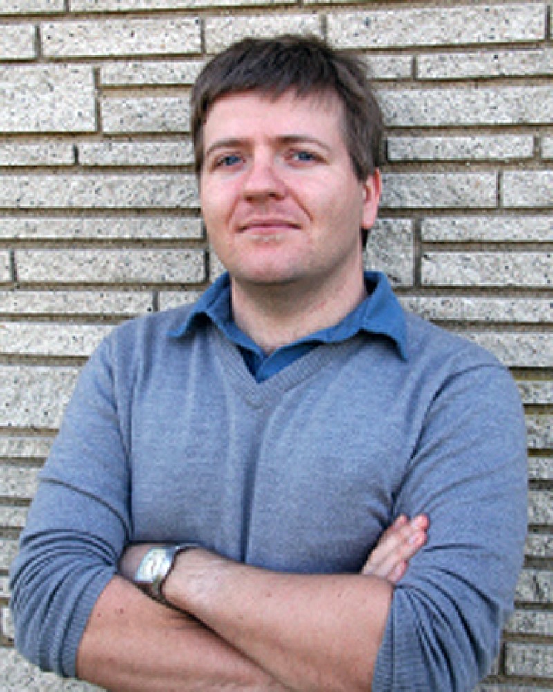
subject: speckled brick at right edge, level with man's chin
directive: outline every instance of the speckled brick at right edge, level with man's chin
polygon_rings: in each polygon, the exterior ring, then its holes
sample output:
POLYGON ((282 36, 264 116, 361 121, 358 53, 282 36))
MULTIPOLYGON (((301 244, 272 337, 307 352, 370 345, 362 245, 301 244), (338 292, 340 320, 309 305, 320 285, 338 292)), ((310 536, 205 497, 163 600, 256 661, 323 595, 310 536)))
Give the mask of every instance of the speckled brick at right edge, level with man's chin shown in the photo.
POLYGON ((525 286, 553 283, 552 253, 427 252, 421 260, 426 286, 525 286))

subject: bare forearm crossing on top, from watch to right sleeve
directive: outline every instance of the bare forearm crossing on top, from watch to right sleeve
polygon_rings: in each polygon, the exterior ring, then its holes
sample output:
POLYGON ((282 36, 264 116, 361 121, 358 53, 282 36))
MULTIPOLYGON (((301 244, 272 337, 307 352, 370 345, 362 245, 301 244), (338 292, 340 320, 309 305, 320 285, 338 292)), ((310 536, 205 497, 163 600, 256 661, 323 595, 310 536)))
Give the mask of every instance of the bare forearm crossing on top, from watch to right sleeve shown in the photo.
POLYGON ((393 586, 373 576, 258 570, 179 556, 164 594, 297 691, 368 690, 393 586))

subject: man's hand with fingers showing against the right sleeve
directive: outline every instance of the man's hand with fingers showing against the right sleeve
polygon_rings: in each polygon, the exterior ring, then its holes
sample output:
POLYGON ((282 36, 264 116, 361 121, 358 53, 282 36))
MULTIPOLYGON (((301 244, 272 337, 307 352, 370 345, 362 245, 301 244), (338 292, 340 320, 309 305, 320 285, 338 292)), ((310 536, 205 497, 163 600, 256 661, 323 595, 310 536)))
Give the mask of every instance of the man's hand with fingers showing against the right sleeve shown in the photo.
POLYGON ((409 560, 427 542, 429 519, 419 514, 409 520, 401 514, 380 536, 361 571, 397 584, 409 566, 409 560))

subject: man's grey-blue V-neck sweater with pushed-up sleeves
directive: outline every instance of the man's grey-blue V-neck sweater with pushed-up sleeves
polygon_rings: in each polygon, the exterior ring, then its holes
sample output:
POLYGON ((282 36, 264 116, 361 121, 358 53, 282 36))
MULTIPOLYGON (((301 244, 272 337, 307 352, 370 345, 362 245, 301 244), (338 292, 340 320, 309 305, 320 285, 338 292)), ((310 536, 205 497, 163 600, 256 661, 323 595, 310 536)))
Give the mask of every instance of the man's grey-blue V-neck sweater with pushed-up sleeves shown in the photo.
POLYGON ((407 315, 406 359, 359 334, 256 383, 213 325, 174 336, 187 311, 127 322, 84 367, 12 566, 22 653, 75 675, 129 542, 357 572, 399 513, 426 512, 373 690, 472 689, 498 652, 525 540, 525 430, 507 371, 407 315))

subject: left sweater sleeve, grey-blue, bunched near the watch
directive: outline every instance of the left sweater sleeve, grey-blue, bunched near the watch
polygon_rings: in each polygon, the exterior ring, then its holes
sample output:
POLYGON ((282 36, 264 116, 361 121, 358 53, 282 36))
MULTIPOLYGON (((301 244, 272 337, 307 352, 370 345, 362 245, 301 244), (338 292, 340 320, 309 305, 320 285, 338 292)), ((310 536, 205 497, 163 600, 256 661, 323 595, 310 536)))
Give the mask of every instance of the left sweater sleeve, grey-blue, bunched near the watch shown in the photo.
POLYGON ((69 677, 93 605, 131 531, 109 350, 104 342, 79 377, 10 574, 17 648, 44 670, 69 677))

